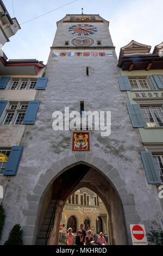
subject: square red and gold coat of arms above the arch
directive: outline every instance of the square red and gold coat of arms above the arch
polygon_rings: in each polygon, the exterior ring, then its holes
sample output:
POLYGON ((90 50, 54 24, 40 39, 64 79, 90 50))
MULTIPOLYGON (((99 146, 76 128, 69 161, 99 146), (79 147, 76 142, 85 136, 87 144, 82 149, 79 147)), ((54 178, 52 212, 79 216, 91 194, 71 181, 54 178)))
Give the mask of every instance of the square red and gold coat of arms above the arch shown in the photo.
POLYGON ((73 132, 73 151, 90 151, 89 132, 73 132))

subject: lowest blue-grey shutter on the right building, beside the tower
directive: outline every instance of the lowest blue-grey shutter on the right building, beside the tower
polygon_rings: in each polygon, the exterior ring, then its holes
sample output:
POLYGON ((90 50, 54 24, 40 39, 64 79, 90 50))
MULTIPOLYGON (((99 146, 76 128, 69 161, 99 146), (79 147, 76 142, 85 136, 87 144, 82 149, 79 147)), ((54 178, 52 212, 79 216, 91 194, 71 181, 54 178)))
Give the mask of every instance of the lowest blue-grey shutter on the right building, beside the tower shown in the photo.
POLYGON ((160 175, 156 169, 152 153, 150 151, 141 151, 141 158, 148 180, 148 184, 161 184, 160 175))

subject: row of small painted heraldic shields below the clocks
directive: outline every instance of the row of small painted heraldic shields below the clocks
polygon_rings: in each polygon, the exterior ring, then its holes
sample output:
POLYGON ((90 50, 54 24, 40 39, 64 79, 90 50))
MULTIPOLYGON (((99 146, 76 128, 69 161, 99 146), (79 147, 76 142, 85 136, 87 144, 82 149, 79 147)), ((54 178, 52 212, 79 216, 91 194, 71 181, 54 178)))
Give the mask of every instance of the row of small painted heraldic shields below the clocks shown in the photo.
POLYGON ((97 57, 97 56, 101 56, 101 57, 105 57, 105 56, 113 56, 112 52, 53 52, 52 53, 53 57, 73 57, 73 56, 77 56, 77 57, 81 57, 81 56, 93 56, 93 57, 97 57))

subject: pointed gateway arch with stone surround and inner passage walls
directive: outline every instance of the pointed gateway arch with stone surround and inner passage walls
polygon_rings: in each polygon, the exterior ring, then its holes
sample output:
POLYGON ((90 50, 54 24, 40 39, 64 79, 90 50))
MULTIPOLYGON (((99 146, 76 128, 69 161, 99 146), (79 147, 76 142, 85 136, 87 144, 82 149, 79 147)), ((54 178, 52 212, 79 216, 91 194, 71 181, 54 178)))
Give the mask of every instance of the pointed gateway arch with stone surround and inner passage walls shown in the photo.
POLYGON ((110 245, 129 244, 129 224, 133 221, 138 223, 140 218, 133 214, 135 212, 134 197, 127 193, 125 186, 120 174, 111 164, 89 153, 74 154, 53 163, 51 169, 41 174, 34 193, 27 196, 28 213, 32 212, 32 216, 28 215, 27 224, 23 227, 24 230, 30 230, 26 232, 30 236, 24 236, 24 241, 28 245, 45 244, 49 223, 43 223, 43 221, 46 215, 52 216, 52 209, 47 211, 51 200, 55 203, 59 199, 55 209, 54 227, 49 230, 47 241, 48 245, 58 245, 59 225, 66 200, 73 191, 87 187, 102 199, 108 211, 110 245), (61 188, 60 194, 59 188, 61 188), (41 235, 39 235, 40 232, 42 232, 41 235))

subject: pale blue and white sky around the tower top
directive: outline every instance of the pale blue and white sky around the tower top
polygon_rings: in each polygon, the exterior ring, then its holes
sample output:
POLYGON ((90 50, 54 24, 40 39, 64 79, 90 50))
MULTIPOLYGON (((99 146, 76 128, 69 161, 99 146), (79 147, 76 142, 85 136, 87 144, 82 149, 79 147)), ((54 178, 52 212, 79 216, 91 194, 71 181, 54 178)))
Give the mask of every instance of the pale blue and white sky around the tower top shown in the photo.
POLYGON ((57 21, 66 14, 81 14, 82 8, 84 14, 99 14, 110 22, 109 30, 117 56, 120 48, 131 40, 151 45, 151 51, 163 41, 162 0, 77 0, 39 19, 22 24, 72 1, 3 0, 11 18, 16 17, 21 26, 2 48, 8 59, 37 59, 46 64, 57 30, 57 21))

